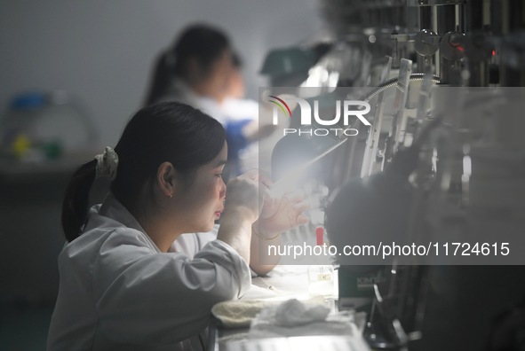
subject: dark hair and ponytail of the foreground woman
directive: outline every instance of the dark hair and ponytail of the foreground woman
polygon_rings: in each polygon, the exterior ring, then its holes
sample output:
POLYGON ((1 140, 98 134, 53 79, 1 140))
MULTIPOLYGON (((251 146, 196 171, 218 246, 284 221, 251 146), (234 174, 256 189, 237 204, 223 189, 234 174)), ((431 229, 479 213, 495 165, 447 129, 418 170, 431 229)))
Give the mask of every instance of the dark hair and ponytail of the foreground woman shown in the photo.
MULTIPOLYGON (((200 110, 176 102, 148 105, 135 113, 115 146, 118 166, 110 190, 136 218, 147 215, 156 205, 141 191, 145 184, 155 185, 163 162, 171 162, 189 184, 195 170, 215 159, 225 141, 219 121, 200 110)), ((78 168, 68 184, 62 227, 69 242, 80 236, 86 220, 96 165, 91 160, 78 168)))

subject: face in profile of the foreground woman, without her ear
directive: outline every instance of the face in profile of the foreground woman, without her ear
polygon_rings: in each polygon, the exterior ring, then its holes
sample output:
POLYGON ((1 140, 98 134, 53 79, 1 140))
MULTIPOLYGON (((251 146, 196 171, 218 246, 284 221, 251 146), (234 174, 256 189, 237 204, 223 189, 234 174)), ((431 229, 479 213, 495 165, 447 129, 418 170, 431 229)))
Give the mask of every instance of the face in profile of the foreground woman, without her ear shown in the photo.
POLYGON ((227 144, 215 157, 197 168, 189 185, 177 196, 183 201, 186 232, 210 231, 224 210, 226 184, 222 180, 222 171, 227 160, 227 144))

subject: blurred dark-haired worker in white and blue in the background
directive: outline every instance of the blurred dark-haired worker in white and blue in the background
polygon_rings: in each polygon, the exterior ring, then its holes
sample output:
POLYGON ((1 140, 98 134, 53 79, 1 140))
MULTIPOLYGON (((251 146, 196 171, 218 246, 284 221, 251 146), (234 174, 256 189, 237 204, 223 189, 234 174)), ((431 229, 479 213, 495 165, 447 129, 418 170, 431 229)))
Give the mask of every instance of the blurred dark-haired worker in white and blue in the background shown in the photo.
POLYGON ((183 102, 221 122, 227 129, 229 144, 226 176, 257 168, 256 147, 249 152, 250 163, 242 164, 239 153, 274 130, 259 129, 259 106, 257 101, 244 98, 241 66, 221 30, 200 24, 187 27, 176 43, 157 58, 146 99, 146 105, 183 102))

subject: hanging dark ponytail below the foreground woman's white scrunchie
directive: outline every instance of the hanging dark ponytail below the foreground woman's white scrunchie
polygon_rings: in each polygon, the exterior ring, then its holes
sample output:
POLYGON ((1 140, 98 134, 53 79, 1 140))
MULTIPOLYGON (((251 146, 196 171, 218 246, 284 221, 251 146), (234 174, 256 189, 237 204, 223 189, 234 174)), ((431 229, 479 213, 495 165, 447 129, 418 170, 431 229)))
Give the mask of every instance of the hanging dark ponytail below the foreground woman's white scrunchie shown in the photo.
POLYGON ((78 168, 68 184, 62 202, 62 228, 68 242, 80 235, 88 211, 91 184, 95 179, 97 160, 91 160, 78 168))

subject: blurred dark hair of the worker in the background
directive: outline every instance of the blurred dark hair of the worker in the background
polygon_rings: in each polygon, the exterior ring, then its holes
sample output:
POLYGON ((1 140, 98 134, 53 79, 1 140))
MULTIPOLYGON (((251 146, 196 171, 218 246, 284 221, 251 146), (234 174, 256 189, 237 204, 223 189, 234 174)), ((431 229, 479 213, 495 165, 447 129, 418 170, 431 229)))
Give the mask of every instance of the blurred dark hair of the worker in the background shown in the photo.
POLYGON ((187 64, 194 59, 202 74, 207 76, 211 66, 229 49, 227 35, 216 27, 196 24, 187 27, 177 41, 156 59, 145 105, 158 102, 170 90, 173 78, 185 80, 187 64))

